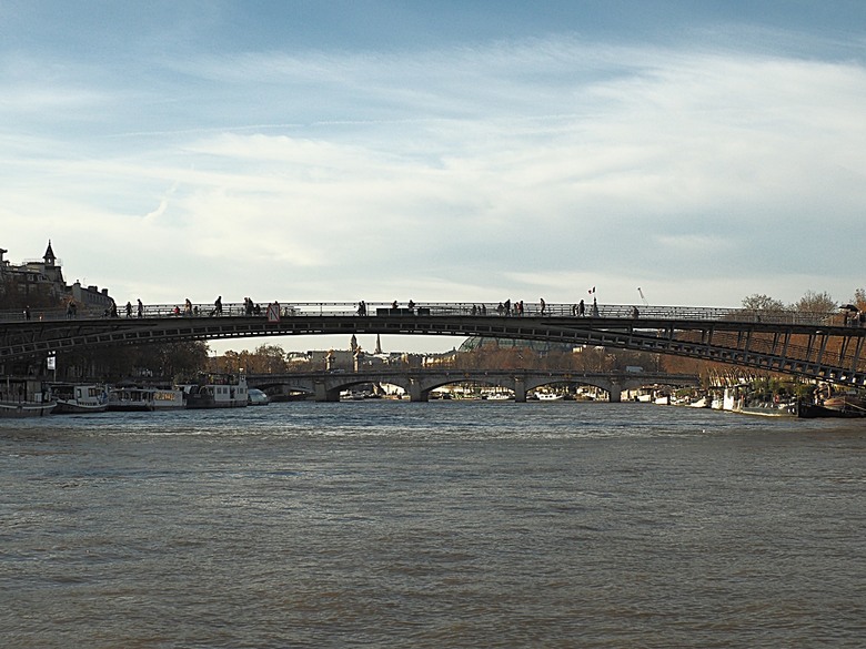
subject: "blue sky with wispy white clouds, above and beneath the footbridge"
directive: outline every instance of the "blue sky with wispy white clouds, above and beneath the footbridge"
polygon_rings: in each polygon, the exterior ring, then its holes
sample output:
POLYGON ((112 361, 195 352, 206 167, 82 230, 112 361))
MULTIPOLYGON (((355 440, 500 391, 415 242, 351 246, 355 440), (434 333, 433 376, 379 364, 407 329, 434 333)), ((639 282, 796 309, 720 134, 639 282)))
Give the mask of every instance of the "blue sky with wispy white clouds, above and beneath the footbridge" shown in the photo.
POLYGON ((859 0, 0 0, 0 247, 119 304, 844 303, 865 181, 859 0))

